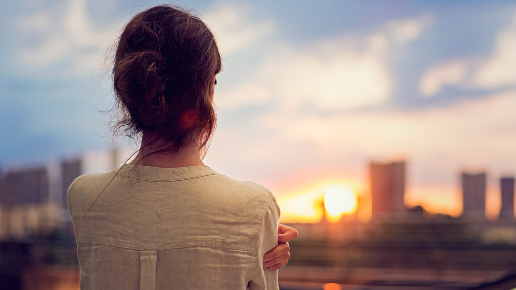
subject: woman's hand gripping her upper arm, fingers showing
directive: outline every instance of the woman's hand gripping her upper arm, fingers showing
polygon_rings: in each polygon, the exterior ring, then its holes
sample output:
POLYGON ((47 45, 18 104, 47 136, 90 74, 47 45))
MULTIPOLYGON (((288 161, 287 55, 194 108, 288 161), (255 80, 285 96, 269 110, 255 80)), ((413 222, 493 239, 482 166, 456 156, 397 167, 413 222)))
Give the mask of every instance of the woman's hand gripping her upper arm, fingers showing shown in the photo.
POLYGON ((263 256, 263 267, 269 268, 269 270, 276 270, 285 266, 288 263, 288 259, 290 259, 288 241, 296 237, 296 229, 280 223, 278 225, 278 246, 265 253, 263 256))

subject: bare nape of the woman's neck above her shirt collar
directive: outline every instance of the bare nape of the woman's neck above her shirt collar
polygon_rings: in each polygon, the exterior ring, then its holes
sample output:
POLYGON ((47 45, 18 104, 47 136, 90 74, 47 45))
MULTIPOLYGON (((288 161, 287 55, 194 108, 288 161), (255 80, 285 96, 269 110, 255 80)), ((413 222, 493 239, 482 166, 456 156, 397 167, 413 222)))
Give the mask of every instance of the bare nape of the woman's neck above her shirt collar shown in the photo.
POLYGON ((140 151, 129 164, 163 168, 204 165, 201 157, 199 156, 197 142, 189 142, 180 150, 173 153, 161 151, 165 149, 163 142, 150 142, 151 136, 143 133, 140 151))

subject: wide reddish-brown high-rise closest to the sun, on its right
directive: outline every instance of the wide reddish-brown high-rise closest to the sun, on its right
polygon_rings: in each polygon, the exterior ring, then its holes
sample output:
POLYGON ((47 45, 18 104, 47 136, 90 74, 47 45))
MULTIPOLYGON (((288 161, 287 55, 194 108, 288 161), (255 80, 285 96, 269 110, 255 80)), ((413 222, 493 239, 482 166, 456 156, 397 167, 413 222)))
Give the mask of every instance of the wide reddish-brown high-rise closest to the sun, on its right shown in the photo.
POLYGON ((370 163, 372 218, 405 212, 405 162, 370 163))

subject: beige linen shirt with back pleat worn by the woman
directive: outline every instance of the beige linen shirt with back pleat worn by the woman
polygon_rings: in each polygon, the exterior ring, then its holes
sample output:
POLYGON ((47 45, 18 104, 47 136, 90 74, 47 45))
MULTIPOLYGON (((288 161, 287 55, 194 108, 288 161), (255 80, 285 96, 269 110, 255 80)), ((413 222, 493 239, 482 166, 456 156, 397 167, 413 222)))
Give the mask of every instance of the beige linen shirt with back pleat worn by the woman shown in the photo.
POLYGON ((124 165, 68 190, 80 288, 278 289, 271 192, 209 167, 124 165), (101 194, 102 192, 102 194, 101 194))

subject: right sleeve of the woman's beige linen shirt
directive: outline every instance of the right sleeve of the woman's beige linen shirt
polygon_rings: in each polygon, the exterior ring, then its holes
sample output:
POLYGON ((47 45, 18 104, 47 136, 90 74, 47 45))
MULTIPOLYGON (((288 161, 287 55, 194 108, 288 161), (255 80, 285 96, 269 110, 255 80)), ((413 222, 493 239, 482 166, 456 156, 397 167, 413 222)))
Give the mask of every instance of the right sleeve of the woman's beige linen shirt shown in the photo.
POLYGON ((280 208, 276 197, 271 195, 267 210, 264 213, 260 234, 256 245, 256 264, 252 281, 249 283, 251 290, 279 289, 278 270, 263 268, 263 255, 278 246, 278 222, 280 208))

